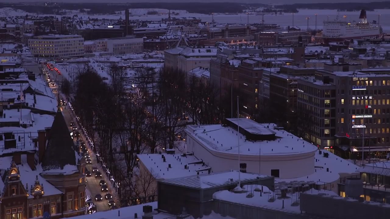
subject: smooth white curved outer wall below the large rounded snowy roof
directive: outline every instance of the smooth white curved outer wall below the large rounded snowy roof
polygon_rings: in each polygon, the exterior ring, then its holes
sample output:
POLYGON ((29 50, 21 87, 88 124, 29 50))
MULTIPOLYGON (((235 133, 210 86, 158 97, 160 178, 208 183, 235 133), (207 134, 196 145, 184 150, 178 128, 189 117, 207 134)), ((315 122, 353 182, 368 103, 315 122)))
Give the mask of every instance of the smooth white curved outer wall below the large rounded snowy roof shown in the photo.
MULTIPOLYGON (((193 152, 213 172, 239 170, 238 154, 211 150, 202 141, 187 131, 187 152, 193 152)), ((254 143, 256 144, 256 143, 254 143)), ((256 145, 254 145, 256 148, 256 145)), ((257 147, 259 148, 259 147, 257 147)), ((240 163, 246 163, 246 171, 271 175, 271 169, 279 169, 280 178, 298 178, 314 173, 315 152, 298 155, 241 155, 240 163)))

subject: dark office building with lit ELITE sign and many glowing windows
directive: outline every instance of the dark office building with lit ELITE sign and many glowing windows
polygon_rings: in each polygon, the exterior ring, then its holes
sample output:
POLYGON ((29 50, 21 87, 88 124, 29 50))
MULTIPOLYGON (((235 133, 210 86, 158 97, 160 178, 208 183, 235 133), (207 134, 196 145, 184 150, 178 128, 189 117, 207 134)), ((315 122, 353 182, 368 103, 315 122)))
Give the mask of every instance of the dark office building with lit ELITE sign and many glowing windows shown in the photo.
POLYGON ((360 69, 325 64, 314 77, 298 80, 298 129, 341 156, 361 157, 363 147, 364 154, 383 156, 390 150, 390 71, 360 69))

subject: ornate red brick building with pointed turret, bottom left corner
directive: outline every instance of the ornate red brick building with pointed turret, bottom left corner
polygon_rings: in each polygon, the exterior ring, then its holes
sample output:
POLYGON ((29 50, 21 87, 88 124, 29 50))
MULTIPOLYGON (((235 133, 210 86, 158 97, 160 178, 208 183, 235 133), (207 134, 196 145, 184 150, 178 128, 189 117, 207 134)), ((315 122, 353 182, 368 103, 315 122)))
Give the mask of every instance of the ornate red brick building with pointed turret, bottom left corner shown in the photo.
POLYGON ((20 142, 14 138, 16 132, 1 135, 1 219, 44 214, 57 219, 85 213, 85 161, 59 109, 50 128, 26 136, 34 150, 16 147, 20 142))

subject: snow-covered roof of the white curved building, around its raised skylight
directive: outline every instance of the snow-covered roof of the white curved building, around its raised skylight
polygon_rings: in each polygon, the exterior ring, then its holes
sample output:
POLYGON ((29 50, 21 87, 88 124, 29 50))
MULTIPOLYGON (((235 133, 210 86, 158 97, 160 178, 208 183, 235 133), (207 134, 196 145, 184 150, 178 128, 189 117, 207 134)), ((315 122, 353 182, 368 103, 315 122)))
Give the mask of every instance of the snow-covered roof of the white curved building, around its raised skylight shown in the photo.
POLYGON ((267 126, 275 132, 276 140, 247 141, 243 134, 222 125, 188 125, 186 131, 209 150, 227 154, 238 154, 238 148, 241 155, 257 156, 259 154, 264 156, 294 155, 317 150, 316 146, 287 131, 274 129, 277 127, 275 124, 259 124, 259 128, 262 127, 262 129, 266 129, 267 126))

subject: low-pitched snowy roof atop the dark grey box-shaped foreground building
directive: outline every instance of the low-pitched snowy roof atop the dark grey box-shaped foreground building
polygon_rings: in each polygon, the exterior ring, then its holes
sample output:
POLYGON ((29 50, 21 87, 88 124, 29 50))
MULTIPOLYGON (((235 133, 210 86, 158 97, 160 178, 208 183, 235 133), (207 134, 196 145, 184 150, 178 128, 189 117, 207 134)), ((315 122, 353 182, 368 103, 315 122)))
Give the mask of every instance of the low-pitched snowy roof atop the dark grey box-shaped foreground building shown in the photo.
POLYGON ((209 189, 213 187, 219 187, 223 185, 231 185, 238 183, 239 178, 242 183, 247 181, 253 181, 257 178, 270 178, 270 176, 259 175, 254 173, 240 173, 239 171, 226 171, 220 173, 210 173, 203 175, 195 175, 190 177, 172 178, 162 180, 161 182, 181 185, 184 187, 191 187, 197 189, 209 189), (232 179, 232 180, 231 180, 232 179))

